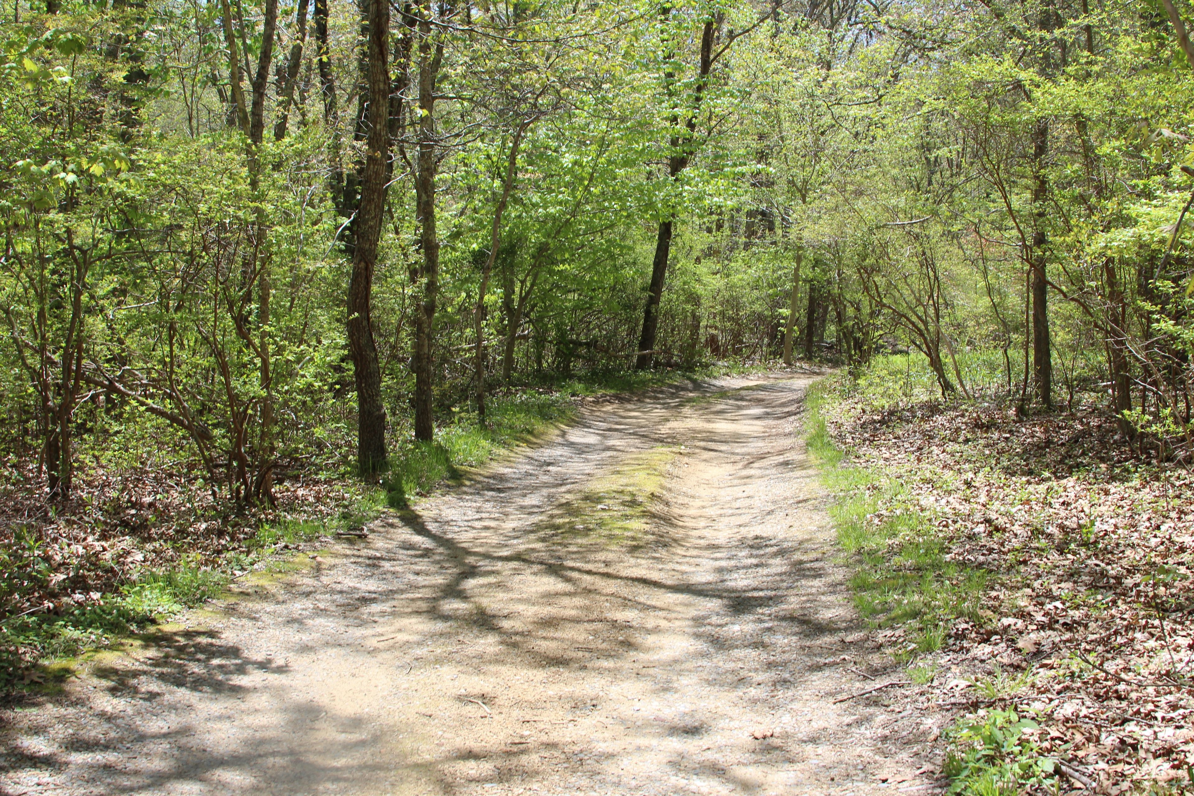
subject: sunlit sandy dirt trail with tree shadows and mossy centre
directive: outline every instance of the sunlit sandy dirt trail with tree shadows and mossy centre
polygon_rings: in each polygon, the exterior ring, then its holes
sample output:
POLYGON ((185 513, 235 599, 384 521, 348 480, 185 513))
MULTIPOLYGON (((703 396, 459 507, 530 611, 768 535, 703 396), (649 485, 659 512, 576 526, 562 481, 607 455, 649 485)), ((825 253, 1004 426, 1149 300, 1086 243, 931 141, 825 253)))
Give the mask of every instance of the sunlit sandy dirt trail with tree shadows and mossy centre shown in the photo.
POLYGON ((0 790, 933 792, 929 727, 835 703, 873 685, 851 667, 888 675, 799 442, 807 381, 586 409, 8 711, 0 790))

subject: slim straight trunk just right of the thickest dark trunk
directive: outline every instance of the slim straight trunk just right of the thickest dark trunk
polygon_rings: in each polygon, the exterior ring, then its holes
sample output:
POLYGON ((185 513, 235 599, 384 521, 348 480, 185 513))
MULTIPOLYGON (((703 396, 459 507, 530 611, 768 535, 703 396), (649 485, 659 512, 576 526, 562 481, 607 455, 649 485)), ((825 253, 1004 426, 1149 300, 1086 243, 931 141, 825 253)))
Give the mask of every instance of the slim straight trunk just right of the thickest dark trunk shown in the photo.
POLYGON ((443 44, 431 42, 430 7, 419 19, 419 152, 414 178, 416 215, 423 248, 421 296, 414 311, 414 438, 435 437, 432 337, 439 291, 439 237, 436 233, 436 78, 443 44))

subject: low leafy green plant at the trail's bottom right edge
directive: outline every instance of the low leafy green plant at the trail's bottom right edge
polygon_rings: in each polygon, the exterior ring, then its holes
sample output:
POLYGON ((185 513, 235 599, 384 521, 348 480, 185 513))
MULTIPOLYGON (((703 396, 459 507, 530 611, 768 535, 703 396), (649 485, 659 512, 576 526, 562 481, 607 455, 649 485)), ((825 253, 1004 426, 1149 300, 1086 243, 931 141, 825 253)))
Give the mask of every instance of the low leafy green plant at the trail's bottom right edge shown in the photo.
POLYGON ((1030 785, 1059 788, 1057 760, 1042 755, 1027 735, 1038 724, 1015 710, 991 710, 947 730, 943 773, 948 794, 1013 796, 1030 785))

